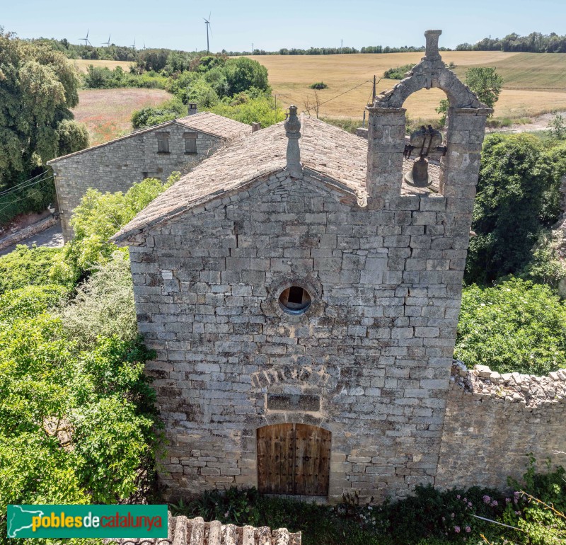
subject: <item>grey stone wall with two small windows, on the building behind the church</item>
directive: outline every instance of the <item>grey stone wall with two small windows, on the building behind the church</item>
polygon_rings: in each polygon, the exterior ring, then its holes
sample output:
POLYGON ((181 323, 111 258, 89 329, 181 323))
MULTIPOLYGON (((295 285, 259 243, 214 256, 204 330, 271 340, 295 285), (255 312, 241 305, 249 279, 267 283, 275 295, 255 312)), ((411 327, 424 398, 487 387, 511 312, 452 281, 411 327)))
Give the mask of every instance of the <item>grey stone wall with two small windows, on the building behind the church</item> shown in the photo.
POLYGON ((196 131, 173 123, 72 154, 52 164, 64 240, 73 236, 71 214, 88 188, 102 193, 125 192, 146 176, 166 180, 174 171, 186 172, 221 146, 219 137, 198 132, 197 154, 185 154, 185 132, 196 131), (168 154, 158 153, 156 132, 169 133, 168 154))

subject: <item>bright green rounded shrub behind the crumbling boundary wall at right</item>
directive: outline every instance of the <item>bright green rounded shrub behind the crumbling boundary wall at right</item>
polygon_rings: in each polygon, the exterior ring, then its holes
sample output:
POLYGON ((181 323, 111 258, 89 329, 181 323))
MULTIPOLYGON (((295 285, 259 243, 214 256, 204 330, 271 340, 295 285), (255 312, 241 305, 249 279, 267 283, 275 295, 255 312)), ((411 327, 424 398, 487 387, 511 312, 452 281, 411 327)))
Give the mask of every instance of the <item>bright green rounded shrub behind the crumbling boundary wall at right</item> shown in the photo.
POLYGON ((566 366, 566 306, 545 285, 512 278, 463 290, 455 357, 498 372, 566 366))

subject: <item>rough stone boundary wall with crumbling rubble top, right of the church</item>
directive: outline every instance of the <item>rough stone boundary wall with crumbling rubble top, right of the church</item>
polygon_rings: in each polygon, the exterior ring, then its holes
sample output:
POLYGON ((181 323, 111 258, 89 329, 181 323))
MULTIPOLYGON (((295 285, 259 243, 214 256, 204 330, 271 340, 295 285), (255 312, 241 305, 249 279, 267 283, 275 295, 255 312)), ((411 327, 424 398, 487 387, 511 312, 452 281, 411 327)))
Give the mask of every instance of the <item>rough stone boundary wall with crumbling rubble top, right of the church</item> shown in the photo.
POLYGON ((538 469, 565 465, 565 423, 566 369, 536 377, 454 362, 435 484, 506 488, 529 452, 538 469))

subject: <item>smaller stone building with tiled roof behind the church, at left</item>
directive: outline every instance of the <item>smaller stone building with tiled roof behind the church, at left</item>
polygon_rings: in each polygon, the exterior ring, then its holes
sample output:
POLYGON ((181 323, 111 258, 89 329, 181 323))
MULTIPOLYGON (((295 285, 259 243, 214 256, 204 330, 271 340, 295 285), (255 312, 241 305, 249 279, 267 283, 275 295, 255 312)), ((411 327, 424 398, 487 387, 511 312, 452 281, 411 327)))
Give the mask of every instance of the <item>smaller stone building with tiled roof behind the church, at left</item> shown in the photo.
POLYGON ((249 125, 202 112, 52 159, 64 240, 73 236, 71 214, 88 188, 127 191, 144 178, 166 180, 250 133, 249 125))

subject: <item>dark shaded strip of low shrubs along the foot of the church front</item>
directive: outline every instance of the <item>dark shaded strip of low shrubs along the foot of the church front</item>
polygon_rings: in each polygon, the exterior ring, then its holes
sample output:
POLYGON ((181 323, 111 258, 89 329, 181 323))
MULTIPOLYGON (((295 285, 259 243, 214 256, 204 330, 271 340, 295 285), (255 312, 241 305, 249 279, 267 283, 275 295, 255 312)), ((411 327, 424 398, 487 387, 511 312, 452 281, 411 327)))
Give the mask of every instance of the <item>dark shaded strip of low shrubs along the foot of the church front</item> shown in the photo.
POLYGON ((504 495, 497 490, 479 487, 441 491, 417 486, 414 496, 382 505, 360 505, 354 492, 334 507, 267 498, 255 488, 231 487, 205 492, 188 503, 181 500, 171 505, 171 511, 224 524, 284 526, 290 532, 302 532, 304 545, 342 545, 345 537, 349 545, 432 545, 478 542, 473 539, 489 534, 492 526, 472 515, 499 518, 505 505, 504 495))

